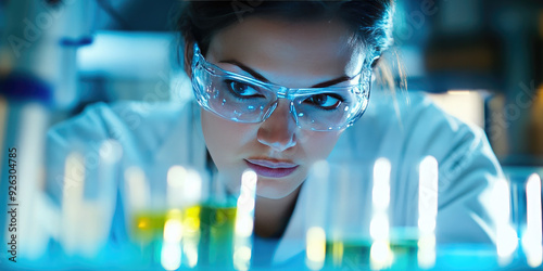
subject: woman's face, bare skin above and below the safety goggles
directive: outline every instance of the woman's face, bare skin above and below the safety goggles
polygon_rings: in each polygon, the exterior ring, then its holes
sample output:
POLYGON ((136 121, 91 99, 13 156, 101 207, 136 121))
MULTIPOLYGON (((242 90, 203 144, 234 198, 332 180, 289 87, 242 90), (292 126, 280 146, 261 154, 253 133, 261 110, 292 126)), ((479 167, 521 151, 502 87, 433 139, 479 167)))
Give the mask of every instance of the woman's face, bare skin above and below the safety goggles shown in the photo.
MULTIPOLYGON (((352 31, 338 21, 249 17, 213 36, 204 56, 229 72, 308 88, 358 74, 361 52, 352 31)), ((312 165, 328 156, 342 133, 299 128, 283 99, 260 124, 235 122, 205 109, 201 119, 207 149, 228 189, 239 191, 243 170, 252 168, 258 175, 256 194, 268 198, 300 188, 312 165)))

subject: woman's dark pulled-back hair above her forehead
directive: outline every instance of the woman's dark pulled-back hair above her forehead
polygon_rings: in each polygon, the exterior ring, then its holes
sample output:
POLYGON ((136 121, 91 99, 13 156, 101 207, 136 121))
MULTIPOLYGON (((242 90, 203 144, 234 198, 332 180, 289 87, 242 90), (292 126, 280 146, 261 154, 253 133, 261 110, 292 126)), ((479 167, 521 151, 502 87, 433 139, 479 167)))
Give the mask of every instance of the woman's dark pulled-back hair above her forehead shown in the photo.
POLYGON ((195 41, 205 54, 220 29, 249 16, 269 15, 289 21, 339 18, 369 50, 366 61, 379 56, 392 42, 394 0, 364 1, 185 1, 176 27, 186 41, 195 41))

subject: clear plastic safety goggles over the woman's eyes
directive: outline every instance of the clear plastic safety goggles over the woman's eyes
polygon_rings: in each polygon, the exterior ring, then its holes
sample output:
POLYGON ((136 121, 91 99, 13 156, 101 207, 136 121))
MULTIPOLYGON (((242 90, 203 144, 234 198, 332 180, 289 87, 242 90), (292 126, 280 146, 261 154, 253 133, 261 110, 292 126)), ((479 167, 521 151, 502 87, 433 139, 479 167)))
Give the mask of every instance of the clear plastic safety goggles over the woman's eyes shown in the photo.
POLYGON ((192 88, 198 103, 237 122, 262 122, 279 99, 290 101, 290 113, 301 129, 341 130, 352 126, 369 102, 371 68, 350 78, 349 86, 291 89, 224 70, 205 61, 197 43, 192 59, 192 88))

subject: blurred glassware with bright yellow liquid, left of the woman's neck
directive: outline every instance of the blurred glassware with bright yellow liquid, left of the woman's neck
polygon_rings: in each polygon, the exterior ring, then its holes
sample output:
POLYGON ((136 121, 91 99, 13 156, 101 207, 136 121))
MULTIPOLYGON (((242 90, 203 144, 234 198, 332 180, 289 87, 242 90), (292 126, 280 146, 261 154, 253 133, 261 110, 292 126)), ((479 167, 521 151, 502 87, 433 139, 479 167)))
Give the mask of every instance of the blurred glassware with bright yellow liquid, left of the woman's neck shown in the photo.
POLYGON ((125 171, 126 224, 130 242, 141 248, 140 264, 248 270, 256 175, 243 173, 239 195, 228 193, 217 176, 177 165, 167 170, 167 183, 160 180, 140 168, 125 171))

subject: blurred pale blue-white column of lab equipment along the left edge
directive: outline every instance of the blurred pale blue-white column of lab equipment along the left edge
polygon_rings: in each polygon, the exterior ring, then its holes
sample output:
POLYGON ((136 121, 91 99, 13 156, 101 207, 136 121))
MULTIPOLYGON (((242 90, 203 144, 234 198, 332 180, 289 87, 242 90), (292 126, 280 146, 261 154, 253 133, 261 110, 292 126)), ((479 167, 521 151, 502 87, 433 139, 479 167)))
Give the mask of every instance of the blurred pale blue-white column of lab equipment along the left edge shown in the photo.
POLYGON ((37 0, 2 5, 0 230, 5 243, 17 243, 7 261, 14 264, 42 257, 49 237, 59 236, 59 210, 41 189, 45 137, 51 113, 76 102, 76 50, 91 41, 93 5, 37 0))

